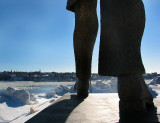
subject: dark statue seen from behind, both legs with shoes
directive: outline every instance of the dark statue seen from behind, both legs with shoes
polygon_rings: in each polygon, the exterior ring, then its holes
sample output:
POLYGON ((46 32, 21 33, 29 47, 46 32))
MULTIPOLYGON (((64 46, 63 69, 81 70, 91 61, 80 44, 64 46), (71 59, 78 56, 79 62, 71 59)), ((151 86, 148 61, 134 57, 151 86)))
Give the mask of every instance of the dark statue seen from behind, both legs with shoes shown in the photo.
MULTIPOLYGON (((145 27, 142 0, 101 0, 101 36, 98 73, 118 77, 120 112, 145 112, 154 107, 142 77, 141 39, 145 27)), ((98 31, 97 0, 68 0, 75 13, 74 53, 77 95, 87 97, 92 52, 98 31)))

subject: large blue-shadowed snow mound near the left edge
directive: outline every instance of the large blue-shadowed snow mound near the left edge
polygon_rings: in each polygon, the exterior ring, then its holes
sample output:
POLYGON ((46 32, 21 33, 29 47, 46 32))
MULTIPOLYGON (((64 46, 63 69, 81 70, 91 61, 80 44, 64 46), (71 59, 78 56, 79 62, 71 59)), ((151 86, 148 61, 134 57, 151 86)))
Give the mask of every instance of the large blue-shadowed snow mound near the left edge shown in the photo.
POLYGON ((23 104, 32 104, 36 101, 34 95, 30 94, 27 90, 16 90, 11 87, 8 87, 1 93, 1 98, 17 101, 23 104))

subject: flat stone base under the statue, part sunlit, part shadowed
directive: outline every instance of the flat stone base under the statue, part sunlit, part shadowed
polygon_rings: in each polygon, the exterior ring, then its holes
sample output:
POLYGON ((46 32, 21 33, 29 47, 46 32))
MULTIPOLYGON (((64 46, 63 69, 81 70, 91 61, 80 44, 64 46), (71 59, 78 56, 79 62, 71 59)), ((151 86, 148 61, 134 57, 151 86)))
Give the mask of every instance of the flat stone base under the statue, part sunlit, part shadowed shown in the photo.
POLYGON ((86 99, 65 94, 26 123, 158 122, 156 108, 138 116, 119 116, 118 103, 117 93, 90 94, 86 99))

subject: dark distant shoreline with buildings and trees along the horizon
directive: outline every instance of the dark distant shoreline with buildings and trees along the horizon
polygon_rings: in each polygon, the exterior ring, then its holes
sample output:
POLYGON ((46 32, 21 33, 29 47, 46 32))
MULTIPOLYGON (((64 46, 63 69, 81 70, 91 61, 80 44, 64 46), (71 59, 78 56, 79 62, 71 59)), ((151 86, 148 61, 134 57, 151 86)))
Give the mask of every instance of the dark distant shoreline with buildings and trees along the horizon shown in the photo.
MULTIPOLYGON (((160 76, 157 72, 146 73, 144 79, 153 79, 160 76)), ((97 73, 92 73, 91 80, 108 80, 111 76, 99 76, 97 73)), ((75 72, 20 72, 20 71, 4 71, 0 72, 0 81, 34 81, 34 82, 73 82, 76 81, 75 72)))

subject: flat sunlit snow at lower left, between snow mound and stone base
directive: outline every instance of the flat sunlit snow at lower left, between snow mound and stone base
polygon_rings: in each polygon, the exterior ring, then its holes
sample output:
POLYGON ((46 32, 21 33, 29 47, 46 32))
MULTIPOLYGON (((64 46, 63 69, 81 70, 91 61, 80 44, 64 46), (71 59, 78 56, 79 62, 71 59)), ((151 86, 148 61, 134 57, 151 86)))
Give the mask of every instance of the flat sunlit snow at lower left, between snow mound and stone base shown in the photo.
MULTIPOLYGON (((46 94, 43 94, 45 97, 46 94)), ((41 95, 36 95, 36 104, 21 105, 12 102, 3 102, 0 104, 0 123, 23 123, 35 116, 37 113, 48 107, 58 98, 43 98, 41 95), (9 103, 12 103, 10 105, 9 103), (30 114, 30 108, 34 107, 36 113, 30 114)))

